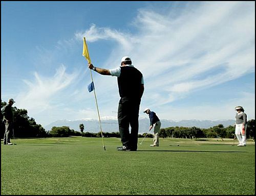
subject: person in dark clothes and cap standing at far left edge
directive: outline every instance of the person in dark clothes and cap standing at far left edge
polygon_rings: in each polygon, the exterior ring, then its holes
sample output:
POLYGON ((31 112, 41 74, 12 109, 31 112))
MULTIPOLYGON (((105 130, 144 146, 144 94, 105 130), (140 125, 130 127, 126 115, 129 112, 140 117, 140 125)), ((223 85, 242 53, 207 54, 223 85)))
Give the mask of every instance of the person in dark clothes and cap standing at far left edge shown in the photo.
POLYGON ((4 144, 7 145, 12 145, 10 137, 13 131, 13 103, 15 103, 14 100, 9 99, 8 105, 6 105, 2 110, 5 122, 4 144))

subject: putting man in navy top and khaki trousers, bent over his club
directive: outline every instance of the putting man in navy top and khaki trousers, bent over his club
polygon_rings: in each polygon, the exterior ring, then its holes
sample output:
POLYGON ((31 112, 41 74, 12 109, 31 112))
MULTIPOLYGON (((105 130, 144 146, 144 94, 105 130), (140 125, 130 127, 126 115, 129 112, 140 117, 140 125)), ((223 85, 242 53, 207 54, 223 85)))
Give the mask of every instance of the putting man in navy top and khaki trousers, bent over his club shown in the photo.
POLYGON ((156 113, 150 111, 149 108, 144 109, 144 113, 150 117, 150 130, 154 127, 154 142, 150 146, 159 146, 159 133, 161 128, 161 122, 157 117, 156 113))

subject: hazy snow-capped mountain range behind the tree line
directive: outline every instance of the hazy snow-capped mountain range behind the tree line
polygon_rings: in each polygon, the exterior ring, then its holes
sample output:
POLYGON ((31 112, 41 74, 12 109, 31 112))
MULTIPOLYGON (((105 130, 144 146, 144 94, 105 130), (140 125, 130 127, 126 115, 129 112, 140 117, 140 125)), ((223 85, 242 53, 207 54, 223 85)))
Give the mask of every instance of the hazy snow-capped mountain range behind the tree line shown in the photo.
MULTIPOLYGON (((222 124, 224 127, 233 126, 235 120, 161 120, 161 128, 167 127, 197 127, 197 128, 210 128, 222 124)), ((80 131, 79 125, 84 125, 84 132, 98 133, 100 131, 99 121, 97 119, 59 119, 51 124, 45 126, 47 131, 50 131, 52 127, 67 126, 71 130, 80 131)), ((148 132, 150 127, 149 118, 139 119, 139 133, 148 132)), ((102 132, 118 132, 117 119, 103 119, 101 120, 102 132)))

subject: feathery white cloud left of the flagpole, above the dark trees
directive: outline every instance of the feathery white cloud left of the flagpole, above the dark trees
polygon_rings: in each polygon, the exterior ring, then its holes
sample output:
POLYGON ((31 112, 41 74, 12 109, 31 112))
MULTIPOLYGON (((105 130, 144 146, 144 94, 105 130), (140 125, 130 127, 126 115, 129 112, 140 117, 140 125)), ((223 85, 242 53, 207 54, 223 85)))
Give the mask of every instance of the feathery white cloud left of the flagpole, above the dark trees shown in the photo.
POLYGON ((53 103, 55 105, 58 100, 63 99, 60 96, 61 92, 69 88, 78 76, 78 71, 68 74, 64 65, 56 69, 56 73, 52 77, 43 77, 34 72, 33 81, 24 80, 28 88, 16 97, 17 107, 22 106, 32 112, 51 109, 53 103))

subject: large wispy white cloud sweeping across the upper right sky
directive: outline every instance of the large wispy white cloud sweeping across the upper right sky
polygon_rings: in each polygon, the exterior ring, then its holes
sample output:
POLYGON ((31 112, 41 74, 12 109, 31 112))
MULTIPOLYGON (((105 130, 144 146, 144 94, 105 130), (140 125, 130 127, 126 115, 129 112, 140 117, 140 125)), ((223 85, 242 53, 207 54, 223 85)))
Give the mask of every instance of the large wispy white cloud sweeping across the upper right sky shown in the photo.
POLYGON ((89 42, 116 40, 115 55, 105 65, 118 65, 116 57, 129 53, 143 72, 145 93, 162 89, 169 94, 162 103, 253 72, 255 8, 251 3, 193 4, 187 3, 180 13, 140 9, 132 22, 138 30, 133 35, 93 24, 76 38, 86 35, 89 42))

